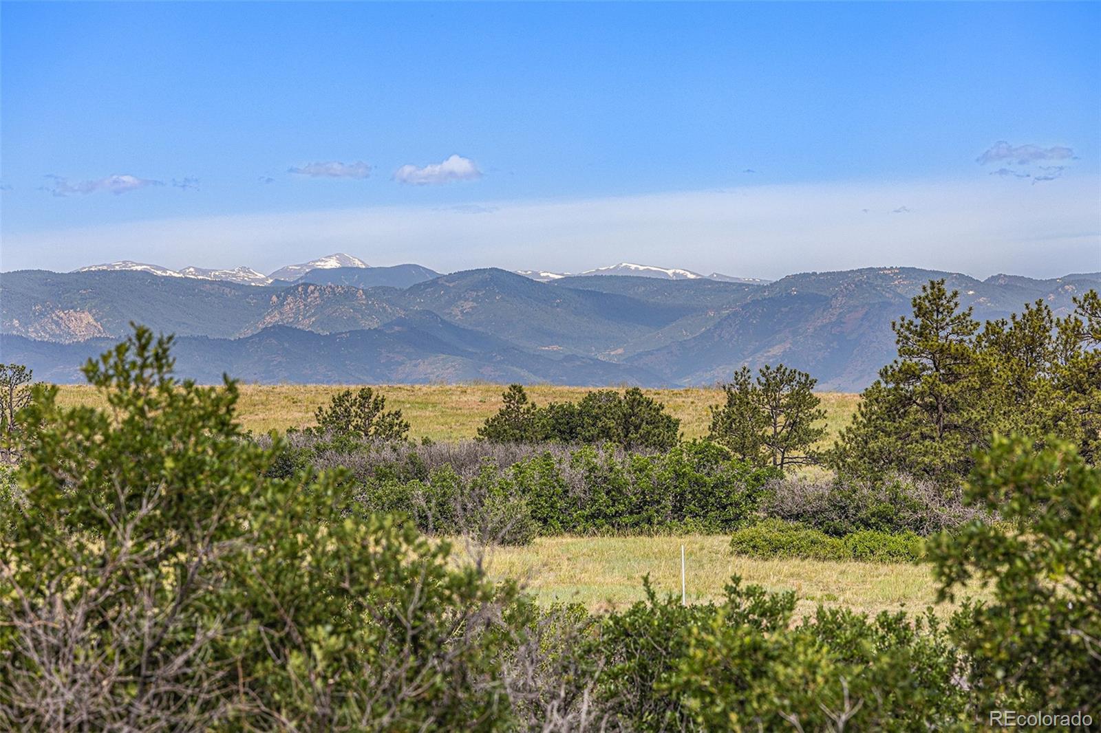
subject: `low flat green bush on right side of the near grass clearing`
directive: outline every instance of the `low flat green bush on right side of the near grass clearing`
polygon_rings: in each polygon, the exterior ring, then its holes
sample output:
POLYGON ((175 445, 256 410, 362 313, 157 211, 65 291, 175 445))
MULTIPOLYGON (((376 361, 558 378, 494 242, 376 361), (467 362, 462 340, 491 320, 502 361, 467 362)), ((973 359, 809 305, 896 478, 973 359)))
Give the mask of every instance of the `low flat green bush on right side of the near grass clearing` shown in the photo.
POLYGON ((735 555, 760 558, 918 562, 925 557, 924 543, 913 533, 863 529, 831 537, 780 519, 764 519, 735 530, 730 547, 735 555))

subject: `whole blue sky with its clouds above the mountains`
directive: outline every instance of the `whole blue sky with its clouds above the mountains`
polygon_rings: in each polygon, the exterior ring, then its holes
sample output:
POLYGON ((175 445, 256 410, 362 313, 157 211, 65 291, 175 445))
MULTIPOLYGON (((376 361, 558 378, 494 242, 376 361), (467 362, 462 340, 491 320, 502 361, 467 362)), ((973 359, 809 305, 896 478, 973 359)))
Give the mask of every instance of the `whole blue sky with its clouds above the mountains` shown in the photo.
POLYGON ((0 24, 4 270, 1101 269, 1099 3, 3 2, 0 24))

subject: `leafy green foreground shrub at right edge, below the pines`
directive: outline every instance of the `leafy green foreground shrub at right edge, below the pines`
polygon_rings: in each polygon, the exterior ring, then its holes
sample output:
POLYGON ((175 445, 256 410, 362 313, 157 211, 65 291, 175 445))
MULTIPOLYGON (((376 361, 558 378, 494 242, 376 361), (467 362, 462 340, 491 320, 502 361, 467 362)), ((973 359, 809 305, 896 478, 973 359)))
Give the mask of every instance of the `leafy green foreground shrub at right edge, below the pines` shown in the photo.
POLYGON ((1101 470, 1073 444, 996 438, 966 500, 1004 522, 972 522, 930 555, 941 597, 964 584, 957 638, 984 709, 1089 711, 1101 704, 1101 470), (1033 707, 1035 705, 1035 707, 1033 707))

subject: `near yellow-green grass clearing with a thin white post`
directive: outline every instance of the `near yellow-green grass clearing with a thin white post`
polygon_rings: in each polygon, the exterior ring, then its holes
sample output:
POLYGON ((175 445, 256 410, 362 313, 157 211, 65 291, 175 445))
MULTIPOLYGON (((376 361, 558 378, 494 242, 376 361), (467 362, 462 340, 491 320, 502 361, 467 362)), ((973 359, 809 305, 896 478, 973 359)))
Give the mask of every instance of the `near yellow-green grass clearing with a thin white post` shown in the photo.
MULTIPOLYGON (((578 602, 590 610, 622 609, 643 600, 642 578, 659 595, 680 595, 680 545, 685 546, 689 602, 718 600, 730 577, 772 591, 793 590, 796 613, 818 604, 870 614, 923 611, 936 597, 929 566, 734 557, 730 537, 542 537, 525 547, 495 547, 484 564, 495 578, 516 578, 541 603, 578 602)), ((460 543, 456 553, 465 554, 460 543)), ((949 606, 938 606, 947 612, 949 606)))

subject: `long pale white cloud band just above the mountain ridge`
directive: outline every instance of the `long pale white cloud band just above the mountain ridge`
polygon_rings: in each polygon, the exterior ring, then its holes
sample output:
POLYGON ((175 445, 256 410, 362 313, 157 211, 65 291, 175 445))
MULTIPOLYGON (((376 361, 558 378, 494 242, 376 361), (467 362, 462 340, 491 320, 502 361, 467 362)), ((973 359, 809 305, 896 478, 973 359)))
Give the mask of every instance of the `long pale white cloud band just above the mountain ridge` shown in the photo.
POLYGON ((661 262, 696 272, 778 277, 909 264, 985 276, 1101 270, 1095 176, 1059 186, 917 180, 741 186, 470 207, 366 207, 210 216, 3 234, 4 269, 68 271, 138 259, 170 267, 247 263, 274 270, 325 252, 438 271, 499 266, 577 272, 661 262), (915 212, 892 215, 905 201, 915 212), (862 209, 869 211, 864 214, 862 209))

